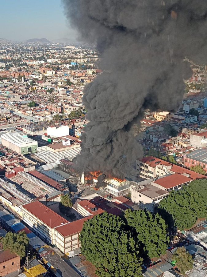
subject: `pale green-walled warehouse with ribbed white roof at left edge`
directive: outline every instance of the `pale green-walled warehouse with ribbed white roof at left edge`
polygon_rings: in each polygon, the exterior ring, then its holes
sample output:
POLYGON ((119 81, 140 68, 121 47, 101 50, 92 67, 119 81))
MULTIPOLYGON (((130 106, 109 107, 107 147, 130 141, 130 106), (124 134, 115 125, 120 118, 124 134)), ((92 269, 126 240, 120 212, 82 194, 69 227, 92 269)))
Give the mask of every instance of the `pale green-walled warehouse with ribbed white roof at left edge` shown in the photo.
POLYGON ((37 142, 17 132, 2 134, 2 144, 20 154, 32 154, 37 152, 37 142))

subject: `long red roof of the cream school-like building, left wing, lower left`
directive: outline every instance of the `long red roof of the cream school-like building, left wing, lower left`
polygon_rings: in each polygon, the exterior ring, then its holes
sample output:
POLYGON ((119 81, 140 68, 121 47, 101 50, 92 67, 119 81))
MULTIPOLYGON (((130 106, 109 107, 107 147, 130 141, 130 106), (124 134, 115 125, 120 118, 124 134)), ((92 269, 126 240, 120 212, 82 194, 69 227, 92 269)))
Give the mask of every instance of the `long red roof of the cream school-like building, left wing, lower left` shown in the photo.
POLYGON ((60 226, 64 223, 69 223, 69 221, 67 221, 62 216, 58 215, 56 212, 52 211, 50 208, 43 205, 39 201, 23 205, 22 207, 51 228, 60 226))

